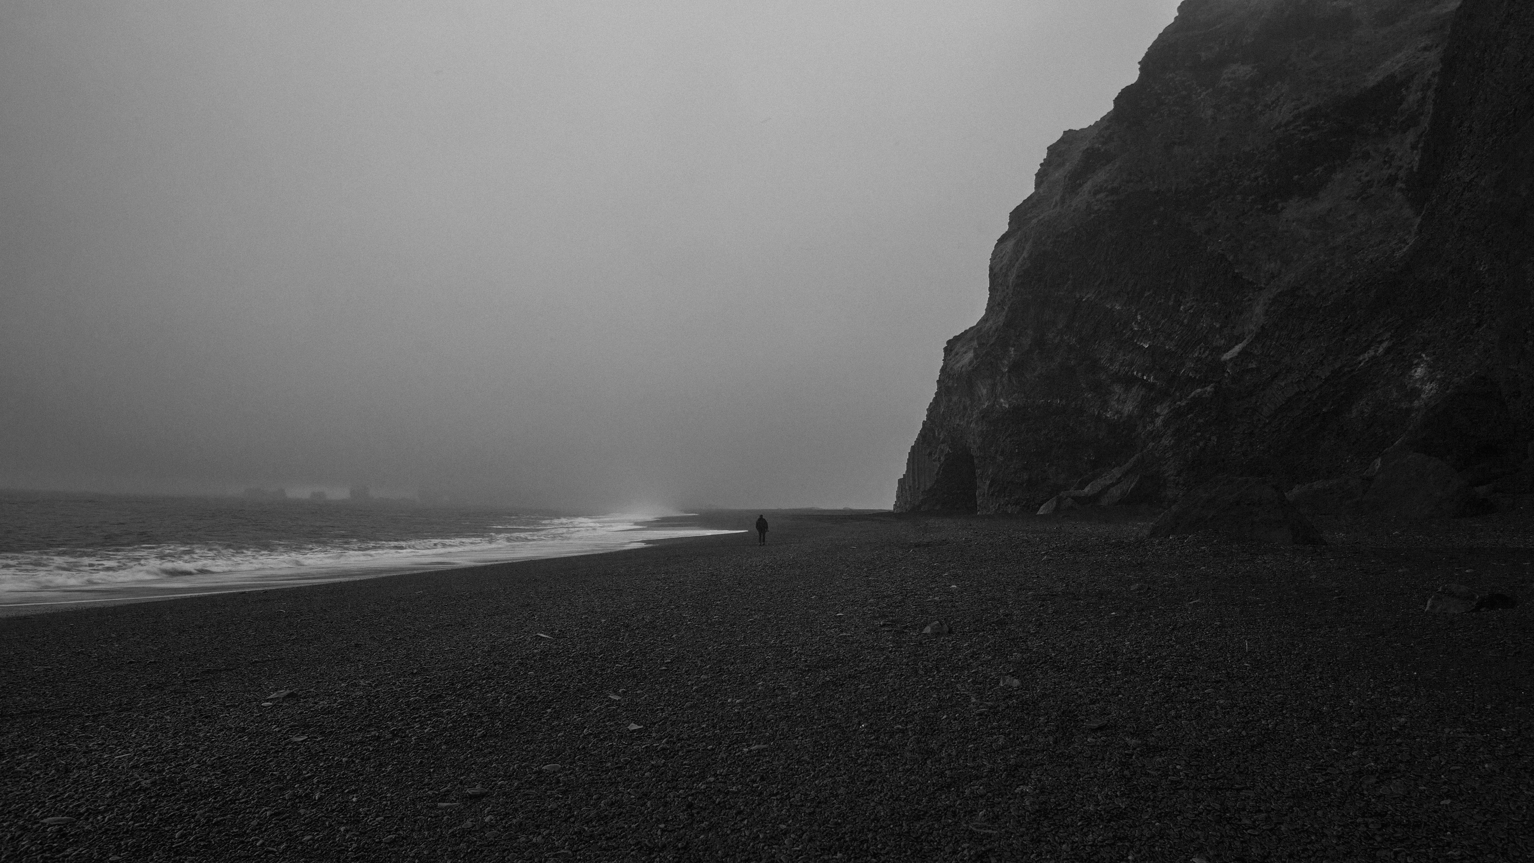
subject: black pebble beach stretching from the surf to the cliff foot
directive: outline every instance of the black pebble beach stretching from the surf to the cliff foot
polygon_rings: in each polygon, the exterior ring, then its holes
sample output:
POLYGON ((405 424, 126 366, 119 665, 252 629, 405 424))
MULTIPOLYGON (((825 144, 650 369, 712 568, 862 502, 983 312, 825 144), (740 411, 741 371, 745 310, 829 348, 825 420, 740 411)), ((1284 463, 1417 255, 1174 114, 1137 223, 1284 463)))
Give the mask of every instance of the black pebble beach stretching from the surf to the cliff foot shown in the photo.
POLYGON ((0 621, 0 858, 1534 855, 1528 514, 769 517, 0 621))

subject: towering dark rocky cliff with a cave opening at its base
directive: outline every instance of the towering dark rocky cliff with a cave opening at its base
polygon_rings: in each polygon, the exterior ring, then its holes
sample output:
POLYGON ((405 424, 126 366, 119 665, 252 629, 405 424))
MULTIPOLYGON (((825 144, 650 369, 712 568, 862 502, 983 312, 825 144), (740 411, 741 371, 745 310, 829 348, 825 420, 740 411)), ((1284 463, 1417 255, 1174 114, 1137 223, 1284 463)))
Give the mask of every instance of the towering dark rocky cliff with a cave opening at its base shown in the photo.
POLYGON ((1534 432, 1531 121, 1526 0, 1186 0, 1012 212, 896 509, 1310 483, 1467 388, 1506 428, 1456 468, 1505 458, 1534 432))

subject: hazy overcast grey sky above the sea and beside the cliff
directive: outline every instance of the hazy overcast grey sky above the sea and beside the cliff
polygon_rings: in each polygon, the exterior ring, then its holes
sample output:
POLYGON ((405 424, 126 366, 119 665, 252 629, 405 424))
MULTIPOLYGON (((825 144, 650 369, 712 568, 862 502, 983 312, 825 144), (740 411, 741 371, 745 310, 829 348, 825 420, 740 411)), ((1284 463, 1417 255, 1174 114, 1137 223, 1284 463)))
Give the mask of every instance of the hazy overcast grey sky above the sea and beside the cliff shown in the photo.
POLYGON ((0 486, 887 507, 1172 0, 0 6, 0 486))

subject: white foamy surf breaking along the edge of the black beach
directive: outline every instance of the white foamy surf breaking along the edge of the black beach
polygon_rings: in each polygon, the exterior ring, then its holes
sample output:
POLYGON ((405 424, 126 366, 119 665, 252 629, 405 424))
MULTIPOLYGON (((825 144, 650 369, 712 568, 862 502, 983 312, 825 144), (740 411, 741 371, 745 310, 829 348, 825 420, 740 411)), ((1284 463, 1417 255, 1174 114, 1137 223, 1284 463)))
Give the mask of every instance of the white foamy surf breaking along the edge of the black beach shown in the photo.
MULTIPOLYGON (((330 540, 229 544, 143 544, 0 553, 0 593, 57 592, 176 579, 199 586, 301 578, 367 578, 393 572, 460 567, 511 559, 595 553, 638 540, 696 537, 721 530, 644 530, 643 515, 523 518, 471 537, 330 540)), ((20 596, 17 596, 20 598, 20 596)))

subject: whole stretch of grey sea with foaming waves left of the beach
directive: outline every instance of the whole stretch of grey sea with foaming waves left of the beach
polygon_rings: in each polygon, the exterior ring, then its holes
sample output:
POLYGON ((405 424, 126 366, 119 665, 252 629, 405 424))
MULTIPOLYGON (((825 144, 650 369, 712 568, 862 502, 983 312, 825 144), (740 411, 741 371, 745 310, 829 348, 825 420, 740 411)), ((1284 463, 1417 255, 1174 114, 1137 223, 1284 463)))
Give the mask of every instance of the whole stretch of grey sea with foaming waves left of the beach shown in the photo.
POLYGON ((620 550, 723 530, 644 515, 0 492, 0 607, 285 587, 620 550))

